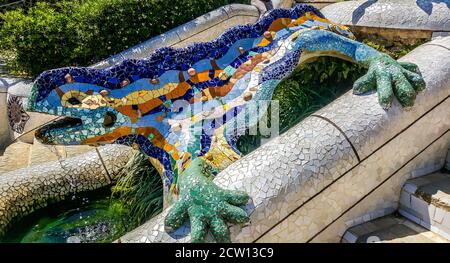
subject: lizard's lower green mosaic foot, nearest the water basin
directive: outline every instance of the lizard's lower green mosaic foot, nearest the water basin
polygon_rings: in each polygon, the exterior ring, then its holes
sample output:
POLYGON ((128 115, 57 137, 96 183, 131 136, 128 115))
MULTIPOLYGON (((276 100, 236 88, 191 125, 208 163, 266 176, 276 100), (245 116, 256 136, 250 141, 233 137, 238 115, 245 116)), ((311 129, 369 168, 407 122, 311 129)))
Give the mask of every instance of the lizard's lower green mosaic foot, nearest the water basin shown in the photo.
POLYGON ((208 174, 206 163, 196 158, 180 176, 180 199, 165 218, 168 228, 179 228, 188 218, 192 242, 203 242, 209 228, 217 242, 230 242, 226 222, 242 224, 249 218, 238 206, 249 196, 242 191, 219 188, 208 174))

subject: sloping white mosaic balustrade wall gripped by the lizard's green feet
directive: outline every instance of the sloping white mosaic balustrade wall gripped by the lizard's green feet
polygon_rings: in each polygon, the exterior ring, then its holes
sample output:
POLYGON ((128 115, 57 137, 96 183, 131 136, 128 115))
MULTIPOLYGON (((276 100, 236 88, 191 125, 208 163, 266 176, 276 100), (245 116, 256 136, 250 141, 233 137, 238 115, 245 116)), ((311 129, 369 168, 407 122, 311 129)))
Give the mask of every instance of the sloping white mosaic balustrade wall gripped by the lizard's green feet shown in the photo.
MULTIPOLYGON (((220 172, 214 179, 216 185, 243 190, 251 196, 245 206, 251 224, 230 226, 233 242, 306 242, 331 222, 312 242, 339 242, 347 228, 396 210, 401 187, 409 176, 431 172, 429 167, 435 167, 436 160, 441 160, 442 167, 449 136, 441 137, 404 166, 450 127, 450 51, 442 47, 450 48, 450 38, 447 44, 435 44, 437 41, 432 41, 401 59, 417 64, 427 83, 426 92, 417 97, 411 110, 405 111, 394 102, 384 111, 377 105, 376 94, 357 96, 349 91, 220 172), (446 104, 429 112, 445 98, 446 104), (331 122, 318 116, 326 116, 331 122), (360 160, 373 155, 358 164, 354 153, 360 160), (363 201, 354 206, 360 198, 363 201), (286 216, 295 210, 288 220, 286 216), (284 230, 259 239, 276 224, 284 230)), ((121 242, 189 242, 189 225, 175 233, 165 231, 167 212, 127 233, 121 242)))

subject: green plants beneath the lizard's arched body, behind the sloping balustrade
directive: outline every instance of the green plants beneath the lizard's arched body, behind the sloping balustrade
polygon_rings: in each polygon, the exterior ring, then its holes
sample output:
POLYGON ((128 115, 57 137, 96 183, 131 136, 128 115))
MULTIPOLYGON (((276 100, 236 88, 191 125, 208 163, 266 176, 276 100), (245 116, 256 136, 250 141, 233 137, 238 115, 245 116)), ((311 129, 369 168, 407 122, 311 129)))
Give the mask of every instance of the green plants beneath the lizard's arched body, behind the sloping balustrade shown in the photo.
MULTIPOLYGON (((320 57, 299 67, 277 86, 272 97, 279 103, 280 134, 348 91, 364 73, 361 66, 333 57, 320 57)), ((237 147, 248 154, 261 145, 262 138, 247 134, 239 138, 237 147)))

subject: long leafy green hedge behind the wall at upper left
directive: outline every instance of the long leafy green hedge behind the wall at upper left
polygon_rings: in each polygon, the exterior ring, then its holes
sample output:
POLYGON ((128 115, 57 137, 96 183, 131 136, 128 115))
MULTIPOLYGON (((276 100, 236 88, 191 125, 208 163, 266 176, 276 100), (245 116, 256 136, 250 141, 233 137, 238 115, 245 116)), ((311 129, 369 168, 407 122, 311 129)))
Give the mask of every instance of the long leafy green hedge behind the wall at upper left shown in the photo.
POLYGON ((220 6, 248 0, 72 0, 38 2, 1 15, 0 48, 13 73, 36 76, 87 66, 220 6))

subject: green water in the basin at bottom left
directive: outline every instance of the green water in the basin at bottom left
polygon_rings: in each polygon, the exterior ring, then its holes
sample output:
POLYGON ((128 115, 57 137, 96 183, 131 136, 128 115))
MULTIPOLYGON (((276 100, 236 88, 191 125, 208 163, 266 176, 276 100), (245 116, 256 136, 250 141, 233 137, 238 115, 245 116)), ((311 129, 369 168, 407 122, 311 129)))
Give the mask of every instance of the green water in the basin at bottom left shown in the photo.
POLYGON ((0 242, 112 242, 125 234, 128 213, 110 189, 72 196, 16 222, 0 242))

